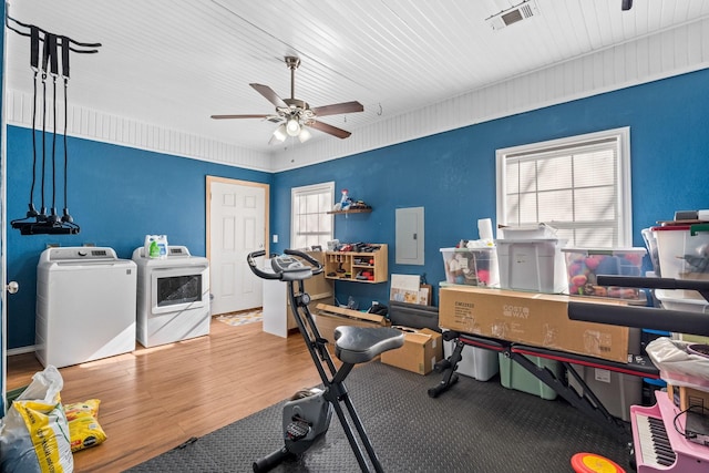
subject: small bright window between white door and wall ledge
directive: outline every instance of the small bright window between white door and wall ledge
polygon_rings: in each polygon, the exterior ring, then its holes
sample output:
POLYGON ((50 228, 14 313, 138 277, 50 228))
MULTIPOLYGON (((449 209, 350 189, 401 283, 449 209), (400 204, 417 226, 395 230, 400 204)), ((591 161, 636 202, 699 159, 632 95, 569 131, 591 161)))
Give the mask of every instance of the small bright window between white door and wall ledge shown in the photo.
POLYGON ((332 209, 335 183, 294 187, 290 191, 291 228, 290 247, 310 248, 320 245, 327 248, 332 239, 332 209))

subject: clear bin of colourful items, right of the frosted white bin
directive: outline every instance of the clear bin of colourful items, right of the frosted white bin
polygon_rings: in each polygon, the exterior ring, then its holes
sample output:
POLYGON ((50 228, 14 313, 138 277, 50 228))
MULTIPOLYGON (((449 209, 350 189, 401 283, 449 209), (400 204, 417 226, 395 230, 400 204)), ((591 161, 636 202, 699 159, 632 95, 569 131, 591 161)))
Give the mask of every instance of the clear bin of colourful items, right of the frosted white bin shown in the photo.
POLYGON ((597 275, 640 276, 645 248, 562 248, 566 261, 568 294, 645 301, 637 288, 598 286, 597 275))

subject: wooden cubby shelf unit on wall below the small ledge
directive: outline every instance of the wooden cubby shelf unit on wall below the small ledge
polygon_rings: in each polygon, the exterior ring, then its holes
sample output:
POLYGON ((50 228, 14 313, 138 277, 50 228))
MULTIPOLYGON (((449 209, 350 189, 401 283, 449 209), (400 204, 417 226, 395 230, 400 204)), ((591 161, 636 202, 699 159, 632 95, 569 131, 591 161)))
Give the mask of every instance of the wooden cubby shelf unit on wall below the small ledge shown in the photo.
POLYGON ((325 254, 325 277, 339 281, 352 282, 386 282, 389 280, 387 245, 377 245, 376 251, 326 251, 325 254), (357 279, 357 275, 362 271, 373 274, 373 279, 357 279), (335 274, 336 276, 331 276, 335 274), (330 276, 328 276, 330 275, 330 276))

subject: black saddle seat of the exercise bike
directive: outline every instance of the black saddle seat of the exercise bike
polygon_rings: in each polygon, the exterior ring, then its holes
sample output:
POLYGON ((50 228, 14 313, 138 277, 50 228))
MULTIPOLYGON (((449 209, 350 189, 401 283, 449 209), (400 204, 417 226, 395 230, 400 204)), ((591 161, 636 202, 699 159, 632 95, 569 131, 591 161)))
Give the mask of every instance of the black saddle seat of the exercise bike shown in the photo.
POLYGON ((403 346, 403 332, 390 327, 341 326, 335 329, 335 354, 343 363, 366 363, 403 346))

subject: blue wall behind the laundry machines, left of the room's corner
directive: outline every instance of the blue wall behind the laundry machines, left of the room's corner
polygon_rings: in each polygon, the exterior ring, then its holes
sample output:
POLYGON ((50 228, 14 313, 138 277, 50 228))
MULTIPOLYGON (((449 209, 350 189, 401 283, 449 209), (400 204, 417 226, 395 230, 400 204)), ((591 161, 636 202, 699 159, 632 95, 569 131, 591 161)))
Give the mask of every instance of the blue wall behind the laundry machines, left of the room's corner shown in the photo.
MULTIPOLYGON (((41 151, 41 134, 37 134, 41 151)), ((48 152, 51 143, 47 143, 48 152)), ((206 254, 206 176, 270 184, 273 175, 152 153, 88 140, 69 138, 69 212, 81 226, 79 235, 21 236, 8 223, 8 280, 20 291, 8 297, 8 346, 34 345, 37 264, 48 244, 109 246, 130 259, 145 235, 167 235, 171 245, 185 245, 193 255, 206 254)), ((23 218, 30 202, 32 131, 8 127, 8 219, 23 218)), ((63 157, 62 141, 56 156, 63 157)), ((51 155, 49 156, 51 158, 51 155)), ((41 160, 41 155, 40 155, 41 160)), ((60 168, 61 168, 61 163, 60 168)), ((49 166, 49 164, 48 164, 49 166)), ((51 173, 51 168, 48 167, 51 173)), ((39 171, 38 171, 39 173, 39 171)), ((51 174, 48 174, 48 179, 51 174)), ((63 185, 58 179, 61 215, 63 185)), ((51 185, 44 202, 51 206, 51 185)), ((41 185, 34 191, 39 209, 41 185)))

